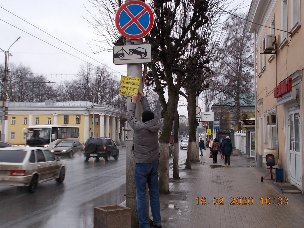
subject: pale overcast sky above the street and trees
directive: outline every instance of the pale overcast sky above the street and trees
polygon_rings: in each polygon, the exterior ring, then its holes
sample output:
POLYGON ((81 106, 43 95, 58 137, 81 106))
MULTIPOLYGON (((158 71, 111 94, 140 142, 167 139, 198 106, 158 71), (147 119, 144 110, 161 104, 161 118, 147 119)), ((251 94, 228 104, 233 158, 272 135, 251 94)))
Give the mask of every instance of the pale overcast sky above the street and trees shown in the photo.
MULTIPOLYGON (((242 4, 240 11, 247 12, 251 0, 235 0, 233 6, 240 3, 242 4)), ((85 20, 92 21, 85 7, 90 12, 95 12, 92 4, 87 0, 0 0, 0 48, 8 50, 10 45, 21 36, 9 49, 13 55, 9 57, 9 63, 22 63, 30 67, 34 74, 43 74, 48 80, 61 83, 64 80, 76 79, 80 66, 90 62, 95 66, 106 65, 109 72, 120 80, 120 75, 126 74, 126 65, 114 65, 112 52, 92 53, 90 47, 95 50, 96 35, 85 20)), ((0 53, 0 64, 4 64, 4 61, 5 55, 0 53)), ((180 109, 188 116, 183 106, 180 109)))

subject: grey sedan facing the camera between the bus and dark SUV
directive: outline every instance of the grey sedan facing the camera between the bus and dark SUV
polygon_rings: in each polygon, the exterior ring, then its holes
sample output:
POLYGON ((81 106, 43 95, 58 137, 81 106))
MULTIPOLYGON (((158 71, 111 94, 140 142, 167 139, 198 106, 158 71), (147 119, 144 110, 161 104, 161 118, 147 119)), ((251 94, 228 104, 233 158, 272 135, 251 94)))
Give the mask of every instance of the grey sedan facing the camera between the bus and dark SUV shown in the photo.
POLYGON ((83 153, 83 145, 78 141, 61 141, 51 152, 57 156, 73 157, 77 152, 83 153))

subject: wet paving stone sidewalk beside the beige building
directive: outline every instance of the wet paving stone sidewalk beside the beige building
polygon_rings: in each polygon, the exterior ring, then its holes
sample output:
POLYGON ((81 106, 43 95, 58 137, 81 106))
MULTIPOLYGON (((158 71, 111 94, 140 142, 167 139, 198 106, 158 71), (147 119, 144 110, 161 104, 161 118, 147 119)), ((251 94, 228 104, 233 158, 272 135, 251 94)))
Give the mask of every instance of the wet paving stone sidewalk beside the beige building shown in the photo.
POLYGON ((228 166, 219 154, 214 164, 204 150, 200 160, 191 170, 180 164, 180 180, 170 169, 170 194, 160 196, 162 227, 304 227, 304 196, 261 182, 269 169, 254 159, 232 155, 228 166))

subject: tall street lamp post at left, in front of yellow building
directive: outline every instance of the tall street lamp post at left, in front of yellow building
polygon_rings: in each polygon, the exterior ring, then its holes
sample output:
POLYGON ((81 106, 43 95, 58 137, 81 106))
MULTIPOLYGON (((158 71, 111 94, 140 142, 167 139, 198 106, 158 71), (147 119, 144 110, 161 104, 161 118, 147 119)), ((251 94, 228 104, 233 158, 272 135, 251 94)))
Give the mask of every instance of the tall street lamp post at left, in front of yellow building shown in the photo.
MULTIPOLYGON (((16 43, 21 36, 18 37, 17 40, 15 40, 14 43, 16 43)), ((9 46, 9 49, 13 46, 13 44, 11 46, 9 46)), ((0 48, 1 49, 1 48, 0 48)), ((2 101, 2 130, 1 130, 1 141, 5 141, 5 119, 7 119, 7 108, 6 108, 6 87, 7 87, 7 76, 8 76, 8 71, 9 71, 9 55, 12 56, 12 54, 9 53, 9 49, 7 51, 3 51, 3 53, 5 54, 5 74, 4 74, 4 78, 2 79, 3 81, 3 101, 2 101)))

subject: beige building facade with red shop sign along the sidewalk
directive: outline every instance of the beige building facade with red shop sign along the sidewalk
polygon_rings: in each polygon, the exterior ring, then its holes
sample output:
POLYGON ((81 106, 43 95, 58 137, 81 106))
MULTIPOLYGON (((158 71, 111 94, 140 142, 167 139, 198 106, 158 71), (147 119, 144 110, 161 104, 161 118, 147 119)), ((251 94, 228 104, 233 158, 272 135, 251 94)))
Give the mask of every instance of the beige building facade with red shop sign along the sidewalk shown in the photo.
POLYGON ((263 151, 275 148, 275 167, 303 192, 304 4, 252 0, 247 20, 255 44, 257 162, 265 166, 263 151))

